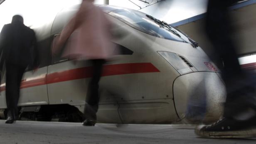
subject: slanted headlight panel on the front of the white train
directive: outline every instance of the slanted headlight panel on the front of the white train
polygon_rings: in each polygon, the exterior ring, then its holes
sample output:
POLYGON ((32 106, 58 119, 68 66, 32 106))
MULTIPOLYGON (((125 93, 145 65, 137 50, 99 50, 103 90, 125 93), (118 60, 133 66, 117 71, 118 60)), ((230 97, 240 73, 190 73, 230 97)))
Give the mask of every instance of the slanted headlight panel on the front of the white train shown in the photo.
POLYGON ((158 54, 170 63, 181 75, 192 72, 192 69, 177 54, 167 51, 158 51, 158 54))

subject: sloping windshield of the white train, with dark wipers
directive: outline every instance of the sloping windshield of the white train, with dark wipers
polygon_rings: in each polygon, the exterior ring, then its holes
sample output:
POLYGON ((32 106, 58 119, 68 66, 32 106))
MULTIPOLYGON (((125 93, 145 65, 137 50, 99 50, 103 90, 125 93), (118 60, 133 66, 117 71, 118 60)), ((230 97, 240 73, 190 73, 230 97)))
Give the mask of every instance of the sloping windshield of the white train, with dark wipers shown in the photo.
POLYGON ((150 15, 146 15, 143 12, 119 9, 114 10, 109 14, 129 24, 131 27, 155 37, 190 43, 186 36, 172 28, 167 23, 161 22, 160 20, 157 20, 150 15))

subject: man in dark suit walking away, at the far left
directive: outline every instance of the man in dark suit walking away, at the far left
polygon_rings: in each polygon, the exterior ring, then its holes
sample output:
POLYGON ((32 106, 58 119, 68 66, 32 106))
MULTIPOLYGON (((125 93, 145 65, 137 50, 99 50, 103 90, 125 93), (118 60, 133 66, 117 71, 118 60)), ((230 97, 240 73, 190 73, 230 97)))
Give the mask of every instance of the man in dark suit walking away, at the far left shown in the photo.
POLYGON ((1 61, 6 65, 6 104, 7 120, 13 123, 17 120, 20 83, 25 69, 36 68, 37 41, 32 29, 23 24, 23 17, 15 15, 12 23, 5 24, 0 33, 1 61))

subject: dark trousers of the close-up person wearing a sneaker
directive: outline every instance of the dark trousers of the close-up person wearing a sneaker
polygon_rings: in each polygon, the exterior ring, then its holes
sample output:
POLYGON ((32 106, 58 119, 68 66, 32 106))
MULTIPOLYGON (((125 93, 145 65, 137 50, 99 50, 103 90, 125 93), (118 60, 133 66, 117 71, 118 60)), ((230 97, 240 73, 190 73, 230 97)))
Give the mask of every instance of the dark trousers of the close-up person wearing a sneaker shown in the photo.
POLYGON ((240 68, 236 45, 231 40, 230 17, 228 7, 236 0, 209 0, 206 32, 214 46, 212 59, 217 60, 226 84, 227 97, 224 105, 224 117, 232 117, 246 109, 255 108, 255 78, 253 74, 240 68))

